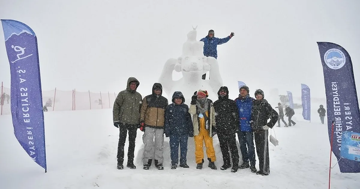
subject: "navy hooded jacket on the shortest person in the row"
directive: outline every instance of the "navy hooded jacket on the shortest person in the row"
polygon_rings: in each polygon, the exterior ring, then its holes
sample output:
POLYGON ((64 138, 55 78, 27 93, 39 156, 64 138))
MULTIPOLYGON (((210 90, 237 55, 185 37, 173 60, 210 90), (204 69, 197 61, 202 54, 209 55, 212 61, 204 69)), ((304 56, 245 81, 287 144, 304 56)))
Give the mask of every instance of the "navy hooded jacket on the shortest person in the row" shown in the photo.
POLYGON ((176 91, 172 95, 172 104, 169 104, 165 110, 165 136, 187 135, 193 136, 193 122, 189 113, 188 105, 184 104, 185 98, 183 94, 176 91), (179 105, 175 104, 175 97, 180 97, 183 102, 179 105))

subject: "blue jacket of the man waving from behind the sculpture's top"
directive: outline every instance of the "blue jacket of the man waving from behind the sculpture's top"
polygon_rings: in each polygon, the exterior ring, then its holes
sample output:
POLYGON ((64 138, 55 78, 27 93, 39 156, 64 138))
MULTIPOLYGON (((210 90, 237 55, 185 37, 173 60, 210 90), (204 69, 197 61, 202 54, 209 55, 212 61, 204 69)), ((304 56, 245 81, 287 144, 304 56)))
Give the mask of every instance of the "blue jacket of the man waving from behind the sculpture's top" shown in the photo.
POLYGON ((206 36, 200 41, 204 42, 204 56, 205 57, 214 57, 217 59, 217 45, 224 44, 230 40, 230 36, 225 38, 209 37, 206 36))

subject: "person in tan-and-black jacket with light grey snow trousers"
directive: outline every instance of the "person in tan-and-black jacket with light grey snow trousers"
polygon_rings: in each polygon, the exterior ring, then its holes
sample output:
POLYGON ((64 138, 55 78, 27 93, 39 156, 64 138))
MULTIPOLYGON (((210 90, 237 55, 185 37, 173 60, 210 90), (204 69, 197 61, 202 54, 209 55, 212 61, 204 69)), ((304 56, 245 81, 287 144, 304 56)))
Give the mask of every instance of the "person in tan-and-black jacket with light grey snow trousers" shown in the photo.
POLYGON ((140 125, 144 126, 144 152, 143 169, 148 170, 154 158, 154 164, 158 170, 163 170, 163 144, 165 109, 168 101, 162 96, 162 85, 154 83, 152 94, 143 99, 140 109, 140 125), (155 137, 155 149, 153 148, 155 137))

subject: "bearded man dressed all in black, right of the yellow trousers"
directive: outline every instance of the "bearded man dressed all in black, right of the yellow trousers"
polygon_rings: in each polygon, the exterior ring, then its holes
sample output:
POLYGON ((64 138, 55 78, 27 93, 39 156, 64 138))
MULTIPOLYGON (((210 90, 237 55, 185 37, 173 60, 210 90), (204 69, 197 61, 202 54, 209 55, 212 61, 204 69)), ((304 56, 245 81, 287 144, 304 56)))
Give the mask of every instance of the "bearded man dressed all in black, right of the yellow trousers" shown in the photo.
POLYGON ((226 170, 231 167, 230 148, 231 159, 233 160, 231 172, 237 172, 239 167, 239 153, 235 133, 239 131, 238 107, 234 100, 229 99, 228 87, 220 87, 217 95, 219 99, 214 102, 216 133, 220 142, 222 159, 224 160, 224 165, 221 166, 220 169, 226 170))

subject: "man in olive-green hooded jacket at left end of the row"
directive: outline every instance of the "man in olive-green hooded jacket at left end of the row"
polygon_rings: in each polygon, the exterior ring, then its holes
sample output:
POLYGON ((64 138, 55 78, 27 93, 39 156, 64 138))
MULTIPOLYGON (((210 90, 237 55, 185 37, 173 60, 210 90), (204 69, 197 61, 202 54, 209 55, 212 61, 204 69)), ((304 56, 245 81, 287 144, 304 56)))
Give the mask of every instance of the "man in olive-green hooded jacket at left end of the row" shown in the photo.
POLYGON ((135 77, 129 77, 126 89, 117 95, 113 107, 114 126, 120 130, 117 147, 117 168, 123 169, 124 146, 127 131, 129 131, 129 149, 127 151, 127 167, 135 169, 134 150, 136 130, 139 127, 142 96, 136 91, 140 82, 135 77))

